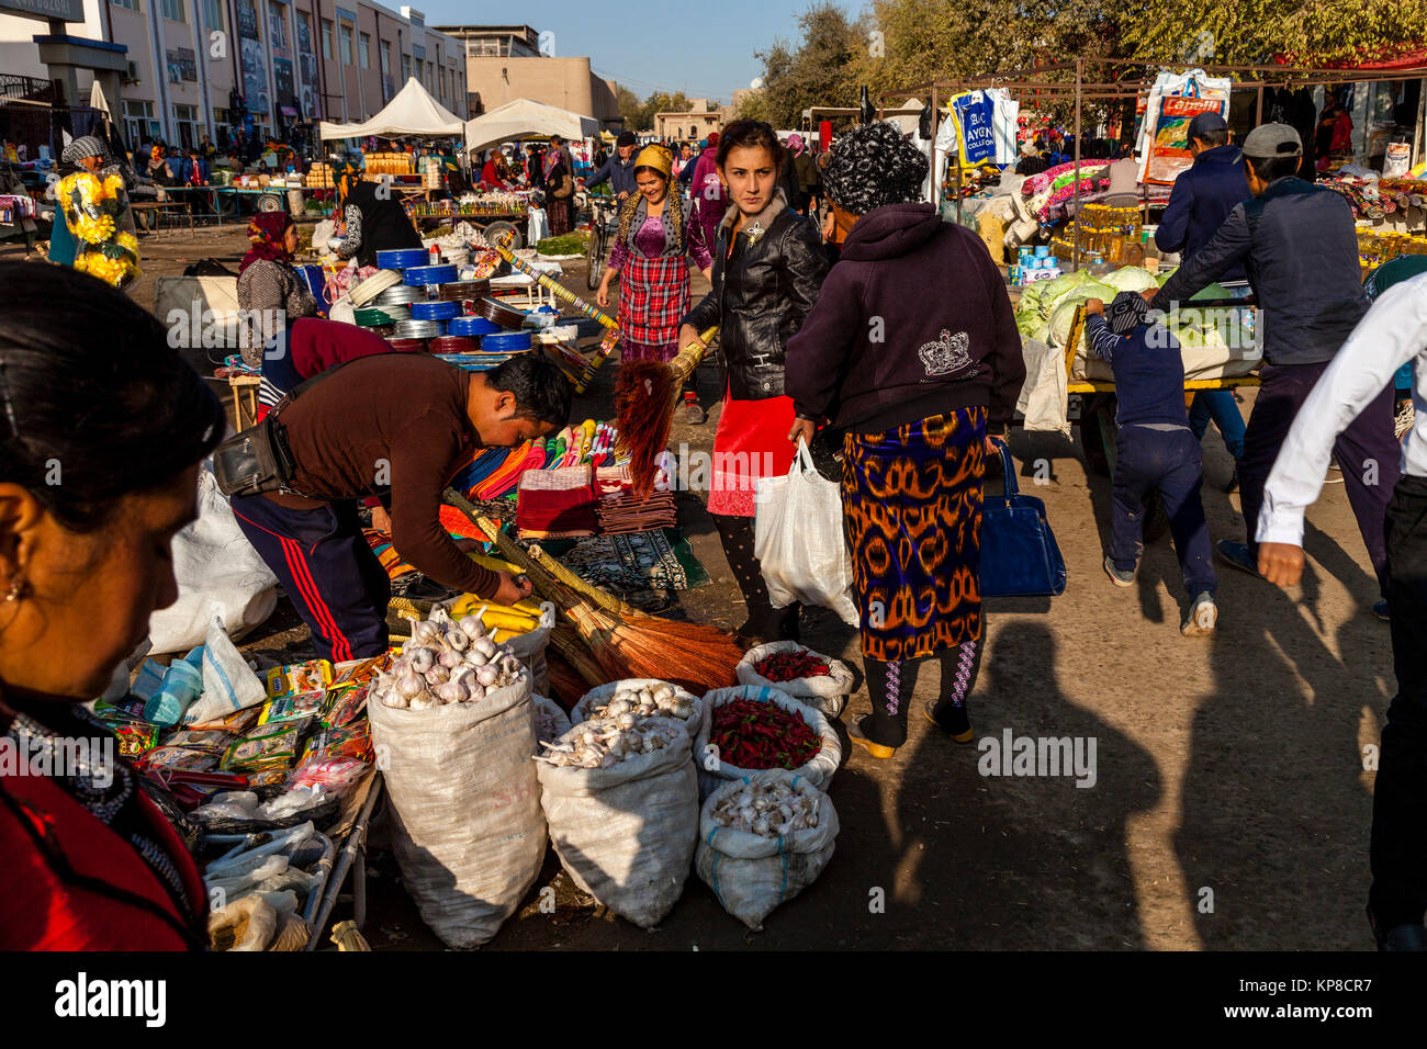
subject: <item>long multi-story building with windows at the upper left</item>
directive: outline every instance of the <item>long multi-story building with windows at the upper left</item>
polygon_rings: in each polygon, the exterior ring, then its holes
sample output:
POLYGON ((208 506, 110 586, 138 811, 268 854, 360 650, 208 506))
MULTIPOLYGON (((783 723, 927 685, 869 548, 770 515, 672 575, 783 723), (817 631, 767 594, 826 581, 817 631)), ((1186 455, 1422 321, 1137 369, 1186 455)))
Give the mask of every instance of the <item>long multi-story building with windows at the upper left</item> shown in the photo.
MULTIPOLYGON (((117 77, 80 70, 51 77, 56 29, 0 14, 0 64, 7 73, 60 78, 70 104, 87 104, 90 83, 118 81, 110 111, 131 143, 183 146, 204 137, 223 146, 230 107, 240 98, 257 134, 315 120, 375 116, 415 77, 442 106, 467 113, 464 44, 427 29, 411 7, 372 0, 66 0, 83 4, 68 36, 124 49, 117 77), (41 36, 49 43, 36 43, 41 36), (49 50, 50 54, 41 54, 49 50)), ((17 3, 0 0, 0 11, 17 3)), ((37 10, 46 10, 44 0, 37 10)), ((83 49, 81 49, 83 50, 83 49)), ((94 50, 97 54, 98 50, 94 50)), ((110 88, 107 96, 113 96, 110 88)))

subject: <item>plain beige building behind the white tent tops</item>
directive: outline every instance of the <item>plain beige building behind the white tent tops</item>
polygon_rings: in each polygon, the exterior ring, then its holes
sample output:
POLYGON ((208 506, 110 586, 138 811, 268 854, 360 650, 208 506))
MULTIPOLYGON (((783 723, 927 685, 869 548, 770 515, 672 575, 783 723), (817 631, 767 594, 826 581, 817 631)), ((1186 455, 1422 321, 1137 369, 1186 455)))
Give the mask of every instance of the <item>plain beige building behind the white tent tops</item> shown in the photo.
POLYGON ((438 26, 465 54, 469 113, 477 117, 517 98, 621 124, 618 84, 589 67, 588 57, 555 54, 555 34, 529 26, 438 26))

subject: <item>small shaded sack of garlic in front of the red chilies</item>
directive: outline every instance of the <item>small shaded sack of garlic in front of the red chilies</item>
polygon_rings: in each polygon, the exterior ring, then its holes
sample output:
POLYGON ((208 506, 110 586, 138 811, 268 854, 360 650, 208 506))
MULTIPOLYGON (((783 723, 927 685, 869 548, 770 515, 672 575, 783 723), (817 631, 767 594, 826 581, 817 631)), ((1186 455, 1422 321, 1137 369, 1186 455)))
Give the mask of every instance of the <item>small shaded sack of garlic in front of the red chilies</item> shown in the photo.
POLYGON ((694 866, 725 911, 755 932, 828 866, 838 839, 832 799, 782 769, 725 784, 699 812, 694 866))

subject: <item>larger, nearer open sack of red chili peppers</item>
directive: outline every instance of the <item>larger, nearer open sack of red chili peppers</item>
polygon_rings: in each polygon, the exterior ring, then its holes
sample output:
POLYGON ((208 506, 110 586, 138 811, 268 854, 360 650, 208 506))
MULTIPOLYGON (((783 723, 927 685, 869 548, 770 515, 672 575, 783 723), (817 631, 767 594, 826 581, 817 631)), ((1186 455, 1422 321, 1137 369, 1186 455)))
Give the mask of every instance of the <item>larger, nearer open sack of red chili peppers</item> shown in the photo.
POLYGON ((709 708, 709 728, 694 751, 702 798, 729 779, 769 768, 798 772, 826 788, 842 764, 842 744, 828 718, 778 688, 715 688, 705 694, 704 704, 709 708), (722 715, 721 708, 726 708, 722 715))

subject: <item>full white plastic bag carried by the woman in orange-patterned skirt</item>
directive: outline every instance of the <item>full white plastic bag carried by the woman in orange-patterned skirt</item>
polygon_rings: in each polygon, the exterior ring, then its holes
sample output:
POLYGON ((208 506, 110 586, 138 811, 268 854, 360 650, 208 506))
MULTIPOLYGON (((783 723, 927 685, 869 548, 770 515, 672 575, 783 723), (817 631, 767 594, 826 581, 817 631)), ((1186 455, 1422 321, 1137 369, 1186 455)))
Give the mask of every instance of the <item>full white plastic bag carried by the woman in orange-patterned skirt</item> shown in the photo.
POLYGON ((773 608, 793 601, 821 605, 859 627, 842 494, 818 472, 803 441, 786 477, 759 478, 755 504, 753 555, 763 567, 773 608))

